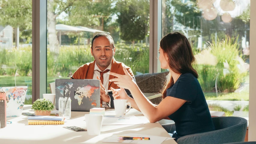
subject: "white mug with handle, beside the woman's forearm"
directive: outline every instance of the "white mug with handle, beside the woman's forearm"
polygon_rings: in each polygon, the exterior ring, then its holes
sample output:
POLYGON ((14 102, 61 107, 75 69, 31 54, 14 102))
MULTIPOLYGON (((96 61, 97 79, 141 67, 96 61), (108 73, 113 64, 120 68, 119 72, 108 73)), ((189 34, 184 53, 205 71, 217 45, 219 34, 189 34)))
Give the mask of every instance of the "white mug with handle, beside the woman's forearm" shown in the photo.
POLYGON ((116 116, 123 116, 127 112, 129 112, 129 110, 131 109, 131 103, 127 102, 128 100, 114 100, 116 116), (126 111, 127 105, 130 106, 128 111, 126 111))

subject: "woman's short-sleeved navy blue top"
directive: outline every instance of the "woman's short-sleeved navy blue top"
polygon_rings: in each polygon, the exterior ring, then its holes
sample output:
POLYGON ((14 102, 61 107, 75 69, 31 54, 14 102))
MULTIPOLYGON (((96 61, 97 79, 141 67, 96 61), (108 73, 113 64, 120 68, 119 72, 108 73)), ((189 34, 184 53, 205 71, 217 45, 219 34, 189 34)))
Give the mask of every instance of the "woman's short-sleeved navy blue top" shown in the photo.
POLYGON ((191 73, 181 74, 166 91, 166 96, 186 100, 176 112, 168 116, 175 122, 176 133, 172 137, 214 131, 215 127, 202 88, 191 73))

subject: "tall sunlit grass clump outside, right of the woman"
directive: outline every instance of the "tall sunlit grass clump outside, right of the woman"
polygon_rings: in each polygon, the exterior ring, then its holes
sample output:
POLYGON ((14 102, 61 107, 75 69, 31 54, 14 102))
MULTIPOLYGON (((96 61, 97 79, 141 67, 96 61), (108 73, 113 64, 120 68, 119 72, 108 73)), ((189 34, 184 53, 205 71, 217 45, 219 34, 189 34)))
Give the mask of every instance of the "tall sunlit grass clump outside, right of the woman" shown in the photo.
POLYGON ((239 51, 238 38, 230 38, 226 36, 223 40, 217 39, 215 43, 212 41, 210 44, 212 48, 212 54, 217 58, 216 68, 220 76, 218 77, 218 89, 220 91, 227 90, 228 92, 236 90, 241 82, 244 81, 244 77, 247 71, 241 71, 237 67, 239 63, 238 58, 242 58, 241 51, 239 51), (224 67, 224 62, 227 62, 229 69, 224 67), (229 73, 224 73, 224 70, 228 70, 229 73))

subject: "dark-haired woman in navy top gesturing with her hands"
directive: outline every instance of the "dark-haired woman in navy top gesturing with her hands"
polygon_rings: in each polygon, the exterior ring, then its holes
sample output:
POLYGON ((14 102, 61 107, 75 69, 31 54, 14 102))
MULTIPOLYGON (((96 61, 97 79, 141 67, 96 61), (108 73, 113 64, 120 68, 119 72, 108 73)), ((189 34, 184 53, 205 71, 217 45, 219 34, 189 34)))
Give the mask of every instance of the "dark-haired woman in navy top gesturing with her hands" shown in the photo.
POLYGON ((109 73, 117 78, 110 79, 120 87, 114 90, 115 99, 127 99, 131 107, 141 111, 150 122, 169 118, 175 122, 176 132, 172 137, 179 137, 214 131, 214 125, 202 88, 197 80, 197 71, 192 67, 195 58, 187 38, 173 32, 160 41, 159 60, 162 69, 169 69, 170 78, 163 91, 163 101, 159 105, 152 104, 141 92, 125 68, 125 75, 109 73), (123 88, 129 89, 130 98, 123 88))

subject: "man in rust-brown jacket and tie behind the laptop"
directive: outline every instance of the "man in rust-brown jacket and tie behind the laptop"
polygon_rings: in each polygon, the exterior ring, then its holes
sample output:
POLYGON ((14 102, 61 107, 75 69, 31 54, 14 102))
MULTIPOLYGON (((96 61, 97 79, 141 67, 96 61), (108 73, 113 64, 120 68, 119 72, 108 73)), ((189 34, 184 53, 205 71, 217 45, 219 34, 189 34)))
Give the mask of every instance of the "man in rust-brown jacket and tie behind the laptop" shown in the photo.
MULTIPOLYGON (((100 80, 100 98, 103 101, 103 106, 114 108, 114 98, 110 88, 119 88, 114 82, 109 82, 114 76, 109 75, 107 72, 114 72, 124 75, 123 66, 127 69, 130 75, 134 78, 133 72, 130 67, 127 67, 121 62, 115 61, 115 46, 113 38, 106 33, 99 33, 94 36, 92 40, 91 54, 94 61, 84 64, 75 71, 71 79, 99 79, 100 80), (107 104, 107 105, 106 105, 107 104)), ((131 97, 130 91, 126 90, 127 94, 131 97)))

